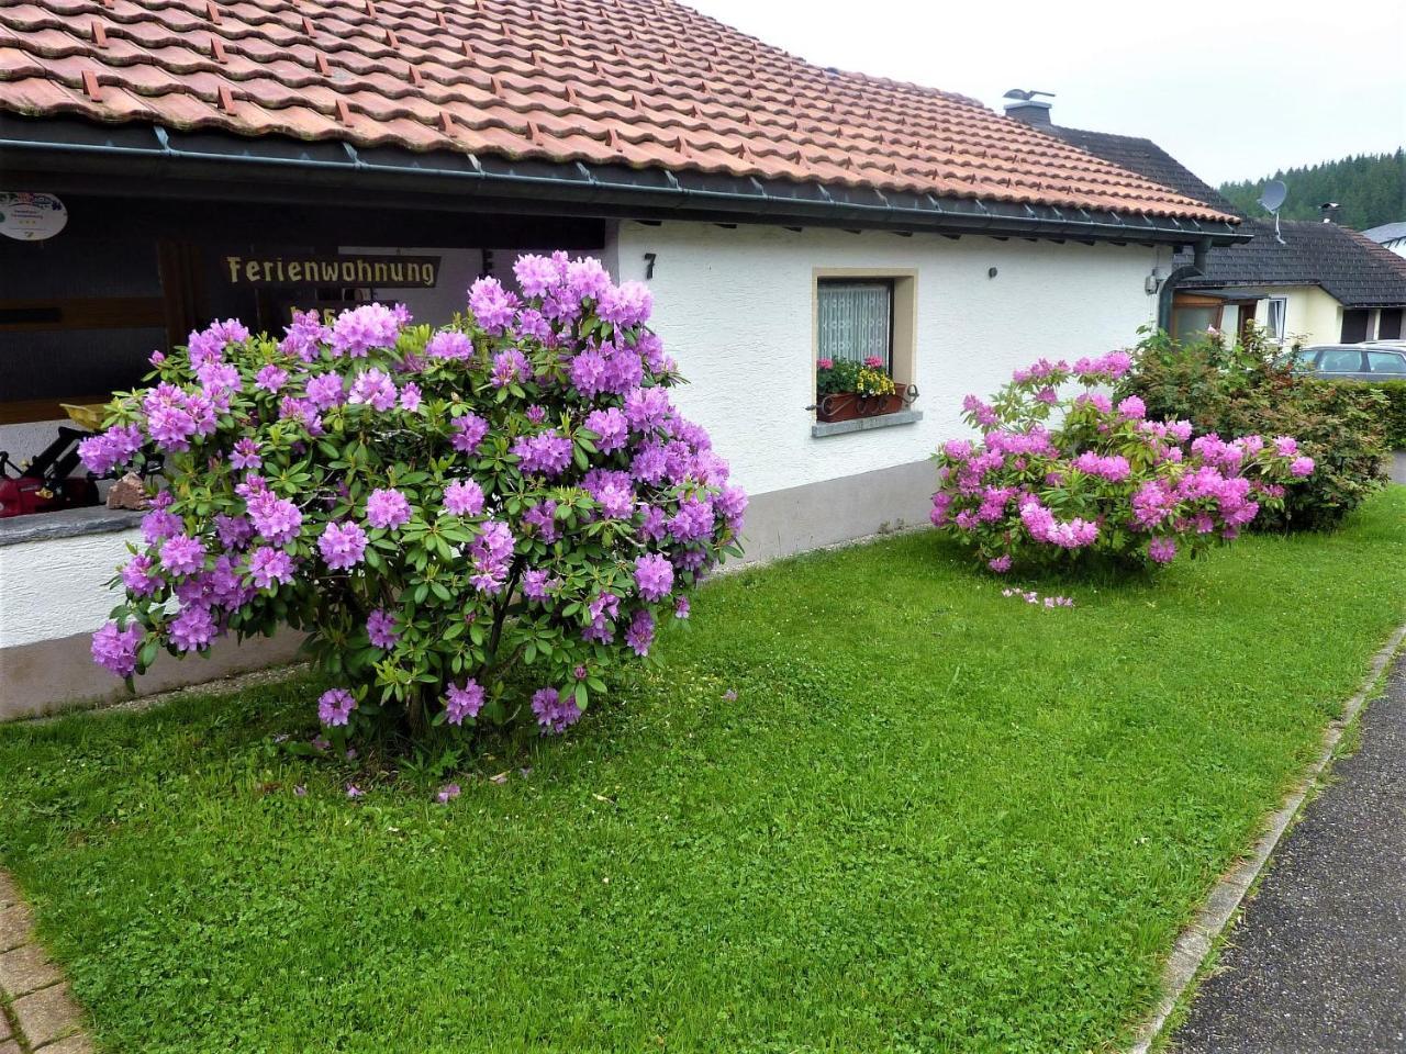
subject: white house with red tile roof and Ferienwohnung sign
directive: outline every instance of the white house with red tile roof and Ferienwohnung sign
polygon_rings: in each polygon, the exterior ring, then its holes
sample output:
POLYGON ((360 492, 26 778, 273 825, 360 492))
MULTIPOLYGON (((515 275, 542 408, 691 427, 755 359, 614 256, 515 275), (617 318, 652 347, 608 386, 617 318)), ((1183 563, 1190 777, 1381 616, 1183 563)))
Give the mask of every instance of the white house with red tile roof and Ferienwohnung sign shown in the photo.
MULTIPOLYGON (((562 247, 651 284, 765 559, 922 521, 965 393, 1126 346, 1180 249, 1244 238, 972 98, 671 0, 32 0, 0 27, 0 191, 55 214, 0 238, 13 454, 212 316, 278 332, 375 298, 444 322, 475 277, 562 247), (910 405, 818 422, 821 341, 880 354, 910 405)), ((0 707, 111 693, 87 632, 134 537, 100 510, 0 520, 0 707)))

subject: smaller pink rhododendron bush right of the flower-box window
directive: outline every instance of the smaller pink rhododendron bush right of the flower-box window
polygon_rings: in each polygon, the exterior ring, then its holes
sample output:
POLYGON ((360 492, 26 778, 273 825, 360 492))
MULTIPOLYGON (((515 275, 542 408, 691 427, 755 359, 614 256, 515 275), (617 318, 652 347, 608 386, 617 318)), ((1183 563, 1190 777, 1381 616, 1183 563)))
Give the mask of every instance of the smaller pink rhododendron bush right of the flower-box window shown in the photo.
POLYGON ((1040 360, 991 403, 967 396, 983 438, 939 450, 932 523, 997 572, 1090 554, 1170 564, 1233 540, 1312 475, 1289 436, 1192 441, 1188 422, 1147 420, 1136 396, 1114 405, 1101 388, 1130 365, 1122 351, 1040 360))

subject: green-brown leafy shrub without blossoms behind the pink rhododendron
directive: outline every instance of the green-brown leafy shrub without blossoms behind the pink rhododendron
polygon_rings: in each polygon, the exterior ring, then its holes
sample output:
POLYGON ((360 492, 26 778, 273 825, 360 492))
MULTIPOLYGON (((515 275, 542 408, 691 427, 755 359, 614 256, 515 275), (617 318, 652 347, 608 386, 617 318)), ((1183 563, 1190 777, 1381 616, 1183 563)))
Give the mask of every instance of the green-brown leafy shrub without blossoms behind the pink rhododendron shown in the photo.
POLYGON ((1136 395, 1149 417, 1188 420, 1198 436, 1294 436, 1313 458, 1313 476, 1256 528, 1337 527, 1386 482, 1386 396, 1371 386, 1296 374, 1258 333, 1244 343, 1215 333, 1184 343, 1160 330, 1143 334, 1118 398, 1136 395))

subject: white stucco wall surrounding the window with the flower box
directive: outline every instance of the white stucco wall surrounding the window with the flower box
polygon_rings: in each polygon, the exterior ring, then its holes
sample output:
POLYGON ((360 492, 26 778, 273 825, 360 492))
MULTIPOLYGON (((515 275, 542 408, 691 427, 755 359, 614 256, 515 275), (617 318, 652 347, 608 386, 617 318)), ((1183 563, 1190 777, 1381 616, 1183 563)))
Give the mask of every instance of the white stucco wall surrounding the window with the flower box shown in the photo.
POLYGON ((609 252, 617 277, 643 280, 645 253, 655 253, 652 325, 690 381, 675 401, 752 493, 920 461, 965 430, 969 392, 990 393, 1042 356, 1130 346, 1156 319, 1143 281, 1170 263, 1168 250, 1146 246, 621 223, 609 252), (811 437, 815 267, 918 270, 922 422, 811 437))

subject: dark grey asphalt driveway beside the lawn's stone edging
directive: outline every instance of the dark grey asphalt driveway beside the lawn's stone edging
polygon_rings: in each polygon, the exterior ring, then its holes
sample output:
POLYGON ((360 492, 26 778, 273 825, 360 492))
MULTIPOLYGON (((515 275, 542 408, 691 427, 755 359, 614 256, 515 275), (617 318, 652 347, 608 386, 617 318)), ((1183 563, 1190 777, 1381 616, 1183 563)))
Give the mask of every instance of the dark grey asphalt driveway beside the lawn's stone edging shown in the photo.
POLYGON ((1171 1048, 1406 1051, 1406 656, 1362 714, 1361 748, 1275 852, 1171 1048))

